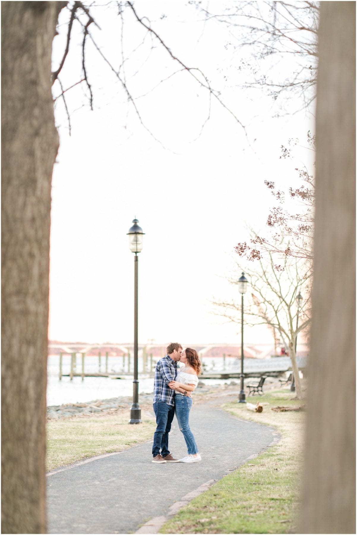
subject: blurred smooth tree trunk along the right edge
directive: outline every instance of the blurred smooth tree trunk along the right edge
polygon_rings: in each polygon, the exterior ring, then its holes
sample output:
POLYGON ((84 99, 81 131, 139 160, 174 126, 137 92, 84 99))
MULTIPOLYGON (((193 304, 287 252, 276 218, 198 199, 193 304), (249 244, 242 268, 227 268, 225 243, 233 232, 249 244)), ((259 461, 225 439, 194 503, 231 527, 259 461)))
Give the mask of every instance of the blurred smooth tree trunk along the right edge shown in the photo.
POLYGON ((355 533, 354 2, 321 2, 319 48, 313 322, 298 531, 355 533))

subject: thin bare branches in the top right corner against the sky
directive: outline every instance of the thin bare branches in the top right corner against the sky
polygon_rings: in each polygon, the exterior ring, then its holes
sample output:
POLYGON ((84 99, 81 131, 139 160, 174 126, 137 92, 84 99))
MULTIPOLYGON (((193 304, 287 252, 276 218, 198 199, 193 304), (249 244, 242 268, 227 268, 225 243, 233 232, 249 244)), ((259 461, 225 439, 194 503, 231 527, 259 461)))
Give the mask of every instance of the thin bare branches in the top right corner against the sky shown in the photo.
POLYGON ((299 109, 309 108, 316 96, 320 2, 189 3, 204 20, 229 30, 226 47, 237 65, 237 85, 263 91, 275 102, 277 115, 296 98, 299 109), (242 58, 246 48, 250 56, 242 58))

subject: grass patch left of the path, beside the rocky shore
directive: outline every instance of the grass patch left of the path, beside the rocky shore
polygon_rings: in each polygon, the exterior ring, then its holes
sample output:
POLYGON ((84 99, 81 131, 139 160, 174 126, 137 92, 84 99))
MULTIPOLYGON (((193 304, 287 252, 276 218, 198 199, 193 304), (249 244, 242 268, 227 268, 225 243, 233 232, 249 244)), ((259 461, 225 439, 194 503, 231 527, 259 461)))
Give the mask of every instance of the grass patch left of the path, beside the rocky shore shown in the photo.
POLYGON ((127 411, 115 416, 48 422, 46 470, 104 453, 122 452, 152 438, 155 429, 155 420, 149 416, 140 425, 128 424, 127 411))

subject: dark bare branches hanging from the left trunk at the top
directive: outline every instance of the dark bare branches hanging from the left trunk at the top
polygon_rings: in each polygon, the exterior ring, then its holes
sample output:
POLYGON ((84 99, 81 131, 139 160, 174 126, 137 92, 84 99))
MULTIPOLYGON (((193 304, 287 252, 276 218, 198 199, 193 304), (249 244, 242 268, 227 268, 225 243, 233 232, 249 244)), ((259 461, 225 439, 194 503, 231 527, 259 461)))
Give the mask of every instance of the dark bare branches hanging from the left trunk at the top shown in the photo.
MULTIPOLYGON (((57 105, 58 102, 64 103, 68 118, 69 133, 71 133, 71 110, 69 109, 69 106, 66 102, 67 91, 82 83, 85 84, 87 86, 87 98, 91 110, 93 109, 94 105, 94 88, 92 87, 92 84, 89 81, 90 70, 87 67, 87 42, 89 40, 92 44, 92 47, 94 47, 98 55, 102 58, 103 62, 107 65, 108 71, 110 71, 113 74, 114 79, 119 82, 123 90, 123 95, 125 95, 128 104, 134 110, 136 117, 139 120, 139 123, 141 123, 141 125, 146 129, 149 135, 160 144, 163 145, 162 141, 158 139, 158 136, 153 133, 152 127, 150 127, 150 125, 147 125, 142 117, 141 105, 139 101, 142 98, 148 96, 151 91, 157 89, 159 85, 169 80, 170 78, 176 77, 179 74, 186 75, 191 80, 195 81, 197 87, 203 89, 209 97, 207 105, 207 114, 205 120, 203 121, 203 124, 201 125, 200 133, 203 131, 205 125, 207 124, 207 121, 211 117, 211 105, 212 101, 215 101, 218 102, 219 105, 224 110, 226 110, 227 113, 230 114, 232 119, 241 128, 243 128, 243 131, 246 134, 245 126, 242 124, 239 117, 232 110, 232 108, 224 102, 220 90, 212 87, 211 82, 207 78, 206 74, 199 67, 192 66, 189 65, 187 62, 184 62, 180 58, 179 51, 172 50, 172 48, 170 47, 170 43, 164 41, 164 39, 162 39, 162 37, 159 35, 158 30, 155 29, 154 23, 150 20, 150 13, 148 13, 147 10, 145 11, 145 13, 140 13, 139 9, 134 5, 134 2, 129 1, 108 3, 109 7, 115 5, 117 6, 118 21, 120 21, 118 25, 118 31, 121 33, 120 49, 118 51, 118 57, 121 59, 119 67, 114 66, 113 62, 111 62, 111 60, 108 59, 108 57, 105 55, 105 52, 103 52, 102 47, 100 47, 100 43, 97 42, 96 37, 91 31, 90 25, 95 26, 99 30, 101 28, 98 26, 94 16, 92 16, 92 14, 89 12, 88 7, 86 7, 86 5, 84 5, 82 2, 74 2, 73 4, 69 2, 67 3, 67 22, 62 28, 58 28, 59 32, 66 32, 66 45, 63 52, 63 57, 61 58, 56 70, 52 72, 51 79, 53 91, 55 93, 55 105, 57 105), (73 33, 75 32, 75 25, 77 25, 77 28, 80 29, 80 32, 82 34, 81 72, 77 73, 77 78, 71 81, 71 85, 69 87, 64 88, 60 76, 66 69, 66 60, 69 54, 71 38, 73 36, 73 33), (138 25, 139 27, 141 27, 142 35, 138 37, 138 42, 135 49, 127 51, 125 50, 125 45, 123 41, 123 28, 127 27, 127 31, 133 32, 133 25, 138 25), (148 49, 149 55, 151 53, 156 52, 157 50, 159 50, 160 52, 165 51, 167 57, 171 62, 171 68, 169 74, 167 74, 167 72, 164 70, 162 71, 162 78, 158 78, 158 82, 156 83, 156 85, 154 85, 154 87, 147 87, 144 89, 143 87, 140 87, 138 93, 137 89, 135 90, 133 87, 134 83, 130 83, 133 82, 134 76, 131 77, 130 81, 127 77, 126 72, 128 69, 128 63, 130 61, 131 53, 134 53, 136 50, 144 46, 148 49)), ((94 7, 98 6, 100 6, 100 4, 96 4, 96 2, 93 2, 91 4, 91 10, 93 10, 94 7)), ((162 18, 165 18, 165 16, 163 15, 162 18)))

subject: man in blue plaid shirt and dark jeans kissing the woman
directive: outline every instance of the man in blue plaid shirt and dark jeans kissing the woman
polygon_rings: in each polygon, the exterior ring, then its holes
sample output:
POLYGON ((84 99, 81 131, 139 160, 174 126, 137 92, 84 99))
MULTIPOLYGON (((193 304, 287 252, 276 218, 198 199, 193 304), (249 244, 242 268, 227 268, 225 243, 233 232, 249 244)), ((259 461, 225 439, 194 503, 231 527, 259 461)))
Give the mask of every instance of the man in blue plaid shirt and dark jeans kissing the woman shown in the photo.
POLYGON ((177 374, 177 362, 182 355, 181 344, 170 343, 166 353, 166 357, 160 358, 155 369, 153 407, 157 428, 152 445, 153 463, 179 462, 169 452, 168 433, 175 416, 175 390, 169 385, 177 374))

